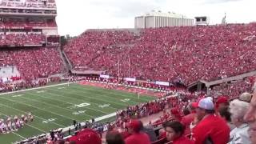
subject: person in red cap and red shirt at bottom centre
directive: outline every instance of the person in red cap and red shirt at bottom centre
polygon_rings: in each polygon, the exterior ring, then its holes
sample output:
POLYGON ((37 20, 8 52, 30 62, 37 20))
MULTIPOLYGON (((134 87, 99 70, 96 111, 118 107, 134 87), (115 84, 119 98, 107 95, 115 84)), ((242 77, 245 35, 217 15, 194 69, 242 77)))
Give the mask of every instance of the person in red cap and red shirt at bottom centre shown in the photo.
POLYGON ((128 124, 128 131, 131 134, 125 139, 126 144, 150 144, 150 137, 141 132, 142 126, 138 120, 131 120, 128 124))

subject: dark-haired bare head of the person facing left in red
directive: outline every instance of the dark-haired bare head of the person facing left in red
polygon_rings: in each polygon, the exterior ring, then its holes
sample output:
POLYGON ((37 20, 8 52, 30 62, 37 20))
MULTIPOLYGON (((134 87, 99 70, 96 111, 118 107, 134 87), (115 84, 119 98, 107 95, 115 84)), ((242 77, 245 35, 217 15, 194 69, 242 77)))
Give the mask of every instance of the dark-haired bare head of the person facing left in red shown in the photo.
POLYGON ((168 141, 174 141, 175 139, 180 138, 184 134, 185 127, 181 122, 172 121, 166 122, 166 138, 168 141))

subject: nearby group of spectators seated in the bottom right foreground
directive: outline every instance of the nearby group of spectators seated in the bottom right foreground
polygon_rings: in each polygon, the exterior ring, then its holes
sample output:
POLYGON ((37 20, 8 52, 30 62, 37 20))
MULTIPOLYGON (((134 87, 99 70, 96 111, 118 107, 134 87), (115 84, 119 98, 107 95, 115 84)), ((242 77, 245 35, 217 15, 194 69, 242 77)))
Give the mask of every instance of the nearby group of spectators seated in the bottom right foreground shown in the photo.
MULTIPOLYGON (((229 100, 226 96, 219 96, 216 99, 198 97, 194 102, 193 100, 186 101, 187 105, 182 105, 185 108, 170 110, 172 119, 163 122, 162 129, 154 134, 149 130, 143 130, 144 128, 140 124, 142 122, 132 118, 126 122, 125 131, 120 132, 117 129, 108 131, 106 143, 255 143, 255 94, 255 91, 254 95, 241 94, 233 100, 229 100), (189 110, 185 113, 186 107, 189 110), (176 110, 179 114, 175 112, 176 110), (156 136, 158 140, 151 141, 156 136)), ((177 102, 180 106, 182 101, 177 102)))

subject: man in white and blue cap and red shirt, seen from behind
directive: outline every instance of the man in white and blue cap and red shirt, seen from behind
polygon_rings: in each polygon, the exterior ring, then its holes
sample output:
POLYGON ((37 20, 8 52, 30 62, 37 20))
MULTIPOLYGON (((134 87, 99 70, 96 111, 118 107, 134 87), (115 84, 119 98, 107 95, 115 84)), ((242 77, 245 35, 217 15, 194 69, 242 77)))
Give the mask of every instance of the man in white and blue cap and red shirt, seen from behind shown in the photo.
POLYGON ((196 144, 211 142, 226 144, 230 139, 230 128, 224 119, 214 115, 214 102, 209 98, 202 98, 196 109, 198 125, 192 130, 196 144))

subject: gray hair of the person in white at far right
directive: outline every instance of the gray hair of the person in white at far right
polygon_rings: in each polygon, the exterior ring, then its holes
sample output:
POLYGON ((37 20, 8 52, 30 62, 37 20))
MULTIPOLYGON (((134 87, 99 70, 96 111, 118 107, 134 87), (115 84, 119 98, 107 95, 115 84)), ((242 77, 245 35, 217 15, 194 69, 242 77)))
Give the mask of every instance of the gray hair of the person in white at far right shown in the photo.
POLYGON ((230 113, 234 118, 243 118, 249 108, 248 102, 243 102, 238 99, 230 102, 230 113))

